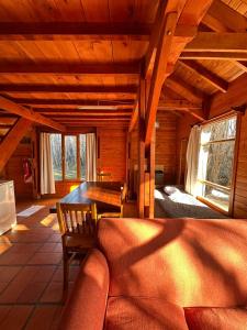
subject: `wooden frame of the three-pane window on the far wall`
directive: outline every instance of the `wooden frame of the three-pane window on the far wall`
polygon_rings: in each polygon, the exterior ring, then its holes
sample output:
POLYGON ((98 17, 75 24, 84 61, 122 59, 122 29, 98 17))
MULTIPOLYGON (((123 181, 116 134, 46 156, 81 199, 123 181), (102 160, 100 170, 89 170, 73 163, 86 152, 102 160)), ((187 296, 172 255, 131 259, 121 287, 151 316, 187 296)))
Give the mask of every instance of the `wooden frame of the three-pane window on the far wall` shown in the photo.
MULTIPOLYGON (((85 178, 81 178, 81 168, 80 168, 80 135, 86 135, 86 133, 54 133, 61 135, 61 179, 55 180, 55 183, 83 183, 85 178), (66 136, 76 136, 76 151, 77 151, 77 177, 74 179, 66 178, 66 164, 65 164, 65 138, 66 136)), ((87 147, 87 146, 86 146, 87 147)))

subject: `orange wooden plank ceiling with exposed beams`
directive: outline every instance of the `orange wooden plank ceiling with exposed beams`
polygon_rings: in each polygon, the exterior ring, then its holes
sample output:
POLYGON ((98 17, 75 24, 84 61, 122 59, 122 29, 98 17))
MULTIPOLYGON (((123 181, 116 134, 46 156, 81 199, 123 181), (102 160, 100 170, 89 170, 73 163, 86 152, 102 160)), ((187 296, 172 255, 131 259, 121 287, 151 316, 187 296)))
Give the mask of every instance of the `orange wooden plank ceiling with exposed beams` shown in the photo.
MULTIPOLYGON (((8 112, 20 116, 13 105, 36 122, 38 116, 47 119, 53 129, 128 127, 139 76, 143 69, 150 74, 144 63, 159 6, 158 0, 0 0, 0 130, 11 127, 8 112), (3 107, 2 99, 10 103, 3 107)), ((246 0, 213 1, 164 84, 159 111, 198 116, 204 102, 247 73, 246 18, 246 0)), ((183 33, 176 30, 178 43, 183 33)))

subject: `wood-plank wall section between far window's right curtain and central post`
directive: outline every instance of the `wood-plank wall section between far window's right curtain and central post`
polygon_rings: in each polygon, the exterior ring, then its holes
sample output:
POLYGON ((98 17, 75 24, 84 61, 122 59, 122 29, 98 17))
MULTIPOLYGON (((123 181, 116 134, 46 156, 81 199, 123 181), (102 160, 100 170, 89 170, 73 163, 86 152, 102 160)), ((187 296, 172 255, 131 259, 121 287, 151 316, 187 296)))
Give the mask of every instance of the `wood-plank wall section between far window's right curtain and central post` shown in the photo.
POLYGON ((111 180, 125 182, 126 177, 126 130, 98 129, 100 140, 98 169, 111 173, 111 180))

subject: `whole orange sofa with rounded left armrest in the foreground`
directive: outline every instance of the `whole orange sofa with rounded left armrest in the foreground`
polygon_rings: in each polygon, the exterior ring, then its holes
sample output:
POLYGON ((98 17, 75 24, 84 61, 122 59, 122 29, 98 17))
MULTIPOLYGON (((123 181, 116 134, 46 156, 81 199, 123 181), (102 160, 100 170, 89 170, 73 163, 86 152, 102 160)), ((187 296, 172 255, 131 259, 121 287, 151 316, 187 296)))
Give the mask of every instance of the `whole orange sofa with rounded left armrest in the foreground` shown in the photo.
POLYGON ((244 330, 246 277, 246 220, 102 219, 60 329, 244 330))

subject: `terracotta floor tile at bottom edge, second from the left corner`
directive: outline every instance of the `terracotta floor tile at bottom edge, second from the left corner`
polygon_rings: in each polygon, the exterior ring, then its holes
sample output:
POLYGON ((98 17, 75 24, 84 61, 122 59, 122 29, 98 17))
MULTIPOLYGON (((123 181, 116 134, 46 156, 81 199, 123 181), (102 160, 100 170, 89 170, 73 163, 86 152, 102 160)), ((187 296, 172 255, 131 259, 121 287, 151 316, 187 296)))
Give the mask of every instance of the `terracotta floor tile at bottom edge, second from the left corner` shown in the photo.
POLYGON ((38 306, 34 310, 25 330, 56 329, 61 314, 60 306, 38 306))

